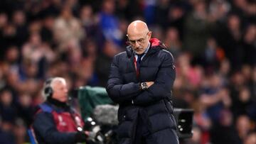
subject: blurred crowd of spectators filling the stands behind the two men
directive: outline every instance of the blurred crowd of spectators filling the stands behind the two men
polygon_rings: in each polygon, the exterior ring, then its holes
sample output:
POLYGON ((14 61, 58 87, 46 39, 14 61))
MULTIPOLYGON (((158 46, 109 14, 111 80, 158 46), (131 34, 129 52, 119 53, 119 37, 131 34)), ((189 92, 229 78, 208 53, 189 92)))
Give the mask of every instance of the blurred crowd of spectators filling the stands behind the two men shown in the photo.
POLYGON ((175 57, 174 106, 194 109, 181 144, 255 144, 253 0, 1 0, 0 143, 29 142, 48 77, 105 87, 136 19, 175 57))

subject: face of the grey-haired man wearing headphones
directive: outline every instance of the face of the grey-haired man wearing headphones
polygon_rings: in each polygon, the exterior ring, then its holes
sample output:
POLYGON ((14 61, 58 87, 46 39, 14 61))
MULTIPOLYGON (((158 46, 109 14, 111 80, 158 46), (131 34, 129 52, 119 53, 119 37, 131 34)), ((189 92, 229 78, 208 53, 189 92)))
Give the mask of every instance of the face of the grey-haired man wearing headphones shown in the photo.
POLYGON ((65 82, 53 82, 53 99, 57 99, 61 102, 68 101, 68 87, 65 82))

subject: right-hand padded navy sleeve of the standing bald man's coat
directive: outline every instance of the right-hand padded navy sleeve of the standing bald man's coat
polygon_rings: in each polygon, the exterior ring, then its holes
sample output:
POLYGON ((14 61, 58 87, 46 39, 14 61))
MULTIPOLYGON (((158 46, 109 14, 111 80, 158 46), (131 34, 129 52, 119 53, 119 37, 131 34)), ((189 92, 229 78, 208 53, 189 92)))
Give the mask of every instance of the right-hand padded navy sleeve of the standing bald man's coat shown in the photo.
POLYGON ((157 73, 154 84, 134 98, 134 104, 147 105, 171 96, 171 89, 174 85, 176 71, 174 57, 170 52, 164 55, 161 66, 157 73))

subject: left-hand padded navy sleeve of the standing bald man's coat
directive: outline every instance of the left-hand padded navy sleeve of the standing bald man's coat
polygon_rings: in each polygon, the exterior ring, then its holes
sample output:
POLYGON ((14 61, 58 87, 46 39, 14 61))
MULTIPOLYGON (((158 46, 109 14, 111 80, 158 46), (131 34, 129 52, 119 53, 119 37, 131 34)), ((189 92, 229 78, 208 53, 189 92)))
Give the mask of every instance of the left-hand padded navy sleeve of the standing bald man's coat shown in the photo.
POLYGON ((110 68, 110 77, 107 81, 107 94, 110 96, 112 101, 120 104, 124 102, 132 102, 132 98, 139 94, 139 83, 130 82, 123 84, 122 76, 119 72, 117 55, 114 59, 110 68))

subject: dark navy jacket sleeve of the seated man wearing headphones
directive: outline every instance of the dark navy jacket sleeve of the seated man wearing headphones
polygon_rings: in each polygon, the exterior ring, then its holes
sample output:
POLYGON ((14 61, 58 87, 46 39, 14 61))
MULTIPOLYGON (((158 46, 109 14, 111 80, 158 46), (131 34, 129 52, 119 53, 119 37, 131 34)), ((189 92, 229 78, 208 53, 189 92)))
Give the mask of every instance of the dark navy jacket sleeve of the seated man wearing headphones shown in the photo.
POLYGON ((50 144, 73 144, 76 133, 61 133, 57 130, 51 113, 40 112, 35 116, 33 130, 36 136, 50 144))

